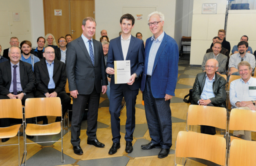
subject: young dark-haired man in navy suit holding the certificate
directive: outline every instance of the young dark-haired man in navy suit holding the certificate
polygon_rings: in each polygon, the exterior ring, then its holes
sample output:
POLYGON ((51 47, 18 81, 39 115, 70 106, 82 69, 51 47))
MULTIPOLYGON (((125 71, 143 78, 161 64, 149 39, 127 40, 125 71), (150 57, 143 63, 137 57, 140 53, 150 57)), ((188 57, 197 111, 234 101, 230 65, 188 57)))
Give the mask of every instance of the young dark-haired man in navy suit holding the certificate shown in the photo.
POLYGON ((135 19, 130 14, 125 14, 120 19, 122 35, 110 41, 108 50, 108 61, 106 72, 115 74, 114 61, 130 60, 131 76, 125 84, 115 84, 115 76, 110 81, 110 106, 111 129, 113 145, 108 154, 117 153, 120 148, 120 107, 124 97, 126 101, 126 149, 127 153, 132 152, 133 131, 135 129, 135 104, 139 93, 141 78, 144 67, 144 43, 143 40, 133 37, 131 30, 134 27, 135 19))

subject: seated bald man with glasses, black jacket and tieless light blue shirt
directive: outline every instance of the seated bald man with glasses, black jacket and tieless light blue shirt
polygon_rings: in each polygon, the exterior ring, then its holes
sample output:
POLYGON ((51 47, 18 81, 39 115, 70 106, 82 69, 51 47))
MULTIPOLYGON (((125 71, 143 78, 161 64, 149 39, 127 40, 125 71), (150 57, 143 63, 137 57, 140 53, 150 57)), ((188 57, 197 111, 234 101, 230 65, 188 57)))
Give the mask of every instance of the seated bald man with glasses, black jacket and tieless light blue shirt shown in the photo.
MULTIPOLYGON (((43 53, 44 61, 35 63, 34 74, 36 77, 36 97, 59 97, 61 98, 62 117, 67 111, 71 98, 65 91, 67 82, 65 63, 55 59, 54 48, 48 46, 43 53)), ((57 117, 55 122, 61 121, 57 117)), ((44 120, 44 124, 47 122, 44 120)))

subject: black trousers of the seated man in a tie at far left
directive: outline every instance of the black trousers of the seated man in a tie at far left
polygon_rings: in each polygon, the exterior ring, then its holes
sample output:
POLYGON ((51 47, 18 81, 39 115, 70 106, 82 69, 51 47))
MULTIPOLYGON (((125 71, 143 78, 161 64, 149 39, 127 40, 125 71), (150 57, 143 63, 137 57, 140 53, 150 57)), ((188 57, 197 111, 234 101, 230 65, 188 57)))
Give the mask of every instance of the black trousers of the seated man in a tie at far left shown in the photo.
MULTIPOLYGON (((33 93, 28 93, 25 96, 23 96, 21 103, 22 105, 25 105, 25 100, 27 98, 34 98, 34 94, 33 93)), ((0 99, 10 99, 7 95, 0 95, 0 99)), ((11 121, 14 121, 15 123, 22 123, 22 120, 16 120, 16 119, 11 119, 11 118, 2 118, 0 119, 0 126, 1 127, 8 127, 11 125, 11 121)), ((26 119, 26 123, 33 123, 33 118, 27 118, 26 119)))

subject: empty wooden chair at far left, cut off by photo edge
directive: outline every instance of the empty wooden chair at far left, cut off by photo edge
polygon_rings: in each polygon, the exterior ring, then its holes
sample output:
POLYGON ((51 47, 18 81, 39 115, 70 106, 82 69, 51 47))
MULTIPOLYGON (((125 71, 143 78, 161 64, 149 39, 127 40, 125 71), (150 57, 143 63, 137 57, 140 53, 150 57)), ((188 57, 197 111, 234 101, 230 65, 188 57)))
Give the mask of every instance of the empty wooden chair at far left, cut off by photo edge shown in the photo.
MULTIPOLYGON (((0 100, 0 118, 16 118, 23 120, 22 104, 20 99, 2 99, 0 100)), ((18 133, 18 144, 4 144, 7 145, 18 145, 18 162, 20 166, 20 128, 23 124, 16 124, 10 127, 0 128, 0 139, 2 138, 13 138, 18 133)), ((23 126, 24 131, 24 126, 23 126)))

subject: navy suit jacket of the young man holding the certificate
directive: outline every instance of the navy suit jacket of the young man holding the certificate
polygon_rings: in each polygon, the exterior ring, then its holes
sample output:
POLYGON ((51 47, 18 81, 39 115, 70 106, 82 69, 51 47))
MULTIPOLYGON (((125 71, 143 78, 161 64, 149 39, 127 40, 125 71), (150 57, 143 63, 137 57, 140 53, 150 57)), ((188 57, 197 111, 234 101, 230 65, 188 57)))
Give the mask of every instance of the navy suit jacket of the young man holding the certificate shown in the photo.
MULTIPOLYGON (((114 68, 114 61, 130 60, 131 74, 136 73, 138 78, 135 79, 132 85, 128 85, 130 90, 138 90, 140 87, 140 74, 144 68, 144 42, 141 39, 131 36, 130 45, 128 48, 126 59, 124 59, 121 36, 110 41, 108 49, 108 61, 106 68, 114 68)), ((111 77, 110 88, 117 89, 120 84, 115 84, 115 76, 111 77)))

